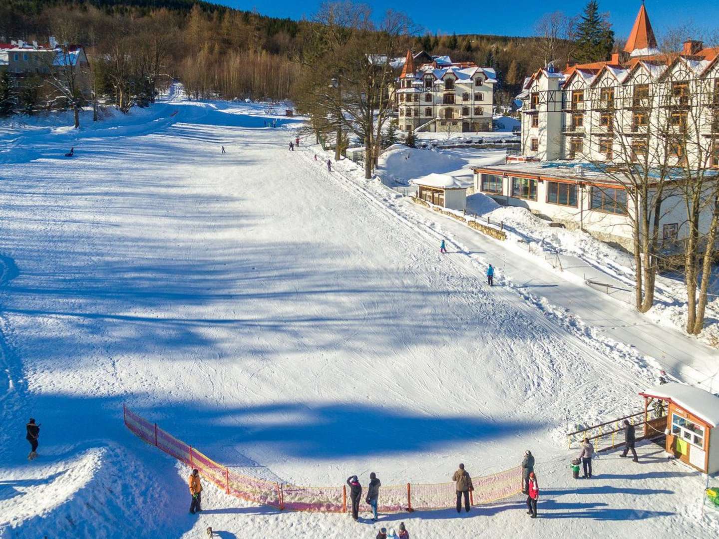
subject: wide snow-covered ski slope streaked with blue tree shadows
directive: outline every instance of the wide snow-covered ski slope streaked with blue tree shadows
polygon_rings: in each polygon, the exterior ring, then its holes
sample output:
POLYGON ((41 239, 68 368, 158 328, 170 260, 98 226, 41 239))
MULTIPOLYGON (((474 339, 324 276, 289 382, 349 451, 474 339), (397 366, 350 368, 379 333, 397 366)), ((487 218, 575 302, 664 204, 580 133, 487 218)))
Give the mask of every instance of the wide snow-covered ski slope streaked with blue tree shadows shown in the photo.
POLYGON ((570 479, 566 410, 636 407, 651 361, 490 290, 481 252, 439 254, 426 217, 289 152, 297 123, 263 122, 261 106, 175 101, 80 132, 0 129, 1 536, 376 535, 208 484, 188 515, 187 469, 124 429, 122 402, 296 484, 445 482, 459 462, 482 475, 536 455, 540 519, 519 498, 384 517, 413 538, 717 533, 702 479, 654 446, 570 479))

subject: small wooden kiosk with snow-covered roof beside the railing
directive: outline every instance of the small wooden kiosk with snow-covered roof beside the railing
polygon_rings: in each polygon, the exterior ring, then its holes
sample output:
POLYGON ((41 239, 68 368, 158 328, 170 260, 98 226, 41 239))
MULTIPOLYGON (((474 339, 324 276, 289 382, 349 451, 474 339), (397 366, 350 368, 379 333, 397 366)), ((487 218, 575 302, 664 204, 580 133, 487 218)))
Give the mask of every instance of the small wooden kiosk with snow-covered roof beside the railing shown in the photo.
POLYGON ((639 393, 644 397, 644 422, 649 403, 669 405, 667 453, 705 474, 719 471, 719 397, 697 387, 672 382, 639 393))

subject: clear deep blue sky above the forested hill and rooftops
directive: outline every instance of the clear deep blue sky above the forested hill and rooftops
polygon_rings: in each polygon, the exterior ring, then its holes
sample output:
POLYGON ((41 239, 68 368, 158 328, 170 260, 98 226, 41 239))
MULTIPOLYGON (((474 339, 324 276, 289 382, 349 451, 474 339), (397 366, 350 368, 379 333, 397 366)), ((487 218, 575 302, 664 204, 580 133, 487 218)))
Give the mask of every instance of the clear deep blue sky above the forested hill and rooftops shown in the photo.
MULTIPOLYGON (((211 0, 212 1, 212 0, 211 0)), ((262 14, 274 17, 301 19, 311 18, 317 11, 320 0, 214 0, 221 4, 251 10, 256 8, 262 14)), ((457 34, 503 34, 526 36, 532 34, 534 21, 548 11, 562 10, 567 14, 578 14, 586 0, 564 0, 541 2, 536 0, 454 2, 452 4, 431 4, 428 1, 366 0, 376 13, 385 9, 404 11, 413 21, 431 32, 457 34), (432 6, 428 9, 428 6, 432 6), (452 6, 451 9, 447 9, 452 6)), ((600 0, 600 10, 609 11, 613 29, 618 37, 627 37, 631 30, 641 0, 600 0)), ((646 9, 654 31, 678 24, 692 23, 697 26, 713 24, 719 27, 719 2, 700 0, 647 0, 646 9), (709 22, 709 23, 707 23, 709 22)))

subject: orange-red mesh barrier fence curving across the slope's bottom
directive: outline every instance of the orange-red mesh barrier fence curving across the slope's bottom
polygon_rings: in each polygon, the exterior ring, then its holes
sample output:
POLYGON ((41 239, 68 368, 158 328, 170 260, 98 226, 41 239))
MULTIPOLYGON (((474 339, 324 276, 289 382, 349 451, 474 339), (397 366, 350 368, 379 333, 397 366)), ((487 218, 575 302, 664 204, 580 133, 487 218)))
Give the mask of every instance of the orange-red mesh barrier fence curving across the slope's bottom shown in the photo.
MULTIPOLYGON (((178 440, 142 418, 123 405, 125 426, 142 440, 165 451, 168 455, 196 468, 208 481, 213 482, 227 494, 280 510, 347 512, 351 505, 347 487, 300 487, 257 479, 226 466, 217 464, 196 448, 178 440)), ((518 494, 522 489, 521 467, 500 471, 484 477, 472 477, 475 489, 470 494, 472 505, 495 502, 518 494)), ((360 510, 369 512, 365 504, 367 486, 363 487, 360 510)), ((456 491, 454 482, 438 484, 383 485, 380 488, 380 512, 447 509, 454 507, 456 491)))

